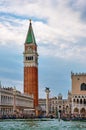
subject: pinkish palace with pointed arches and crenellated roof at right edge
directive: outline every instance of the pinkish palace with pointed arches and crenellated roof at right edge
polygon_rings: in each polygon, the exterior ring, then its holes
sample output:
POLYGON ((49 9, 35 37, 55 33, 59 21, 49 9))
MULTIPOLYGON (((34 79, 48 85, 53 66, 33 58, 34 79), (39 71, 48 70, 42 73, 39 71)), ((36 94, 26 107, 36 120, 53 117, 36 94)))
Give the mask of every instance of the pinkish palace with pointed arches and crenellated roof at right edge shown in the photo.
POLYGON ((86 116, 86 74, 71 73, 72 102, 71 113, 86 116))

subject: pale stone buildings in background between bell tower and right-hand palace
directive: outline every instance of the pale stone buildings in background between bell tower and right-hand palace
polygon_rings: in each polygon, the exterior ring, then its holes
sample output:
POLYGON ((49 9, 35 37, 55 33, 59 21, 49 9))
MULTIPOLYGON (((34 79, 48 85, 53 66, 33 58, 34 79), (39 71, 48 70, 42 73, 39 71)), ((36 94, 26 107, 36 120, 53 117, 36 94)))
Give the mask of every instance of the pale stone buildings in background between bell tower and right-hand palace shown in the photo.
MULTIPOLYGON (((42 108, 42 113, 46 115, 46 99, 39 99, 39 105, 42 108)), ((70 114, 71 112, 69 99, 63 99, 62 95, 49 98, 49 115, 57 116, 58 112, 62 114, 70 114)))

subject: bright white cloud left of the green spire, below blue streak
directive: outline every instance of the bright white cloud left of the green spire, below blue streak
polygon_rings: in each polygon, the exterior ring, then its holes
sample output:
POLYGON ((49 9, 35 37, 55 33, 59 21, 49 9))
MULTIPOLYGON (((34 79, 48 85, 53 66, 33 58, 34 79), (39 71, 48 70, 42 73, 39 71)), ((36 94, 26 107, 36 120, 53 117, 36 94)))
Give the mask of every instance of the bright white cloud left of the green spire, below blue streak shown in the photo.
POLYGON ((8 44, 8 43, 17 43, 22 44, 24 42, 24 22, 21 23, 20 20, 16 20, 14 18, 2 18, 2 21, 0 22, 0 42, 2 44, 8 44))

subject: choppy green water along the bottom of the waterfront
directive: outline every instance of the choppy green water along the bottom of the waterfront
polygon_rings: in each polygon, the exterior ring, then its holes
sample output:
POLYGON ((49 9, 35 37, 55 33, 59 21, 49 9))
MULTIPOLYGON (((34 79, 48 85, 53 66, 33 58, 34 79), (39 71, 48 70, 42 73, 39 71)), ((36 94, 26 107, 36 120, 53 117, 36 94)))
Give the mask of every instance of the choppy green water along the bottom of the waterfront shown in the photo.
POLYGON ((86 130, 86 122, 1 120, 0 130, 86 130))

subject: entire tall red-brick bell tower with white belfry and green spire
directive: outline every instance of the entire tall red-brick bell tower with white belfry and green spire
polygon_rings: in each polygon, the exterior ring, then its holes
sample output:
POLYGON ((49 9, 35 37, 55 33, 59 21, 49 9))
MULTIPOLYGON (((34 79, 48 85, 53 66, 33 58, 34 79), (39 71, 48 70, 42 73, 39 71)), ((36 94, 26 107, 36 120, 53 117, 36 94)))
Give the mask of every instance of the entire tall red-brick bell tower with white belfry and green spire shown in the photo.
POLYGON ((30 20, 24 49, 24 93, 33 94, 34 108, 38 106, 38 53, 30 20))

